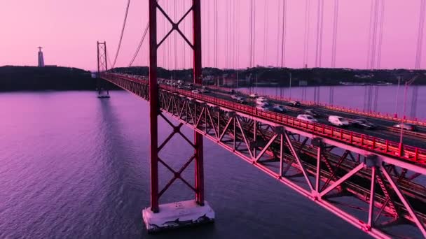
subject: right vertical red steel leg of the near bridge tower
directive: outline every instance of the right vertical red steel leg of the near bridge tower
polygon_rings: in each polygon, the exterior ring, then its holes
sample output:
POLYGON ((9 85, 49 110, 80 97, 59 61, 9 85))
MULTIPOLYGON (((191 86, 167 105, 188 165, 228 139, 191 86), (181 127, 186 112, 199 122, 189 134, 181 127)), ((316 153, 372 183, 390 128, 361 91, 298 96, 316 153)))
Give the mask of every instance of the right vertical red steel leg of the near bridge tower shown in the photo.
MULTIPOLYGON (((201 6, 200 0, 193 0, 193 78, 195 84, 202 84, 201 72, 201 6)), ((204 205, 204 168, 202 135, 194 131, 195 143, 195 201, 204 205)))

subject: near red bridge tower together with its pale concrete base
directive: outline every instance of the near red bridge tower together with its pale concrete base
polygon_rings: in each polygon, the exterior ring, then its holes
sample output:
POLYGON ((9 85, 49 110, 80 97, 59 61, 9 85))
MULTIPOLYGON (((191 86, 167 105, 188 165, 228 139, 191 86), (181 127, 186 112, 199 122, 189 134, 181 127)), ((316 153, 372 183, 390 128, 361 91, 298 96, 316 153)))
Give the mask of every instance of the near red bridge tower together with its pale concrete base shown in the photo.
POLYGON ((174 125, 165 115, 160 113, 158 100, 158 80, 157 80, 157 51, 159 46, 170 36, 172 31, 177 31, 184 38, 184 41, 193 49, 193 79, 194 83, 201 83, 201 8, 200 0, 192 0, 191 8, 177 22, 168 17, 165 10, 157 0, 149 0, 149 108, 150 108, 150 167, 151 167, 151 206, 142 210, 142 217, 148 232, 160 231, 181 226, 201 224, 214 221, 214 211, 205 201, 204 194, 204 168, 203 168, 203 142, 202 134, 194 131, 194 140, 191 142, 180 129, 183 124, 174 125), (172 24, 169 34, 157 41, 157 10, 172 24), (193 17, 193 42, 180 31, 179 24, 192 12, 193 17), (161 117, 172 126, 172 133, 165 141, 158 146, 158 117, 161 117), (193 156, 184 165, 175 171, 167 165, 167 162, 158 157, 158 152, 163 149, 169 140, 179 134, 194 149, 193 156), (195 184, 191 185, 183 177, 182 173, 194 162, 195 184), (172 172, 173 178, 167 182, 165 187, 159 190, 158 187, 158 164, 162 164, 172 172), (170 187, 175 180, 181 180, 195 193, 195 199, 175 203, 159 204, 160 197, 170 187))

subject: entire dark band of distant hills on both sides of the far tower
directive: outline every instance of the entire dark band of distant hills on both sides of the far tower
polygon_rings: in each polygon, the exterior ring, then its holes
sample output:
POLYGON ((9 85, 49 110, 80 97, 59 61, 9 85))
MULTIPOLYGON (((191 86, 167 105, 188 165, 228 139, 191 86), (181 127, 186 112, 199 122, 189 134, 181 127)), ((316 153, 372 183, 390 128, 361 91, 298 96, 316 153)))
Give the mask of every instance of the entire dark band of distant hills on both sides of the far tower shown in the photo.
MULTIPOLYGON (((114 68, 110 71, 119 73, 131 73, 136 75, 148 75, 148 67, 135 66, 129 68, 114 68)), ((392 83, 397 84, 398 77, 410 80, 414 75, 419 75, 415 81, 416 85, 426 85, 426 71, 413 71, 405 69, 395 70, 358 70, 350 68, 273 68, 255 67, 238 70, 240 79, 249 78, 251 80, 240 80, 240 87, 254 85, 259 86, 284 86, 289 85, 291 73, 291 85, 298 86, 299 82, 306 82, 312 85, 341 85, 344 83, 376 84, 392 83)), ((235 79, 237 71, 233 69, 203 68, 202 75, 209 78, 209 84, 216 82, 217 77, 235 79)), ((169 71, 158 68, 158 77, 174 78, 191 81, 192 69, 169 71)), ((108 83, 109 89, 118 87, 108 83)), ((94 90, 96 79, 91 77, 90 71, 79 68, 68 67, 36 67, 36 66, 1 66, 0 67, 0 92, 18 90, 94 90)))

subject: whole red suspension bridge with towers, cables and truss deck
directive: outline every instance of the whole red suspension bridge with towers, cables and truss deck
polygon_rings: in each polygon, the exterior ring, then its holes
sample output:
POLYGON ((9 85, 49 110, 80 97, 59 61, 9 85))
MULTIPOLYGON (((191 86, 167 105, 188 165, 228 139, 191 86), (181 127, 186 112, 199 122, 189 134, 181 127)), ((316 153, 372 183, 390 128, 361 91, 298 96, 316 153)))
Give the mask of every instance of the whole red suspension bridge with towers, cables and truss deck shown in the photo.
MULTIPOLYGON (((277 13, 272 11, 268 2, 262 1, 263 36, 259 34, 259 1, 245 1, 248 11, 240 10, 242 1, 156 1, 149 2, 149 20, 142 38, 137 45, 130 64, 134 64, 137 55, 144 48, 149 52, 147 75, 131 75, 115 71, 118 52, 121 48, 125 23, 130 1, 126 5, 125 20, 119 38, 114 61, 109 61, 105 42, 97 43, 98 89, 107 89, 110 82, 135 96, 149 101, 150 119, 150 168, 151 168, 151 205, 142 211, 146 229, 149 232, 160 231, 192 224, 214 221, 214 208, 205 201, 203 140, 207 138, 232 154, 247 161, 275 180, 287 185, 299 194, 310 198, 312 203, 327 209, 338 218, 356 226, 375 238, 426 237, 426 123, 396 115, 372 113, 375 108, 376 90, 366 90, 368 110, 350 110, 331 107, 315 101, 301 101, 300 107, 285 106, 285 112, 273 112, 255 106, 254 99, 248 103, 235 101, 229 89, 219 86, 203 85, 202 62, 208 66, 219 66, 224 59, 226 68, 242 67, 240 58, 241 17, 247 17, 248 24, 247 66, 254 67, 256 62, 263 65, 275 61, 278 67, 286 62, 287 39, 287 1, 277 1, 277 13), (225 11, 219 19, 219 3, 225 11), (207 15, 206 18, 202 18, 207 15), (256 16, 258 16, 256 18, 256 16), (271 24, 275 17, 275 24, 271 24), (204 21, 202 23, 202 20, 204 21), (220 22, 224 22, 224 38, 219 39, 220 22), (210 25, 212 29, 210 29, 210 25), (257 28, 256 28, 257 24, 257 28), (202 27, 207 32, 202 34, 202 27), (271 57, 268 37, 273 31, 277 38, 275 56, 271 57), (275 32, 276 31, 276 32, 275 32), (207 40, 202 40, 201 36, 207 40), (263 44, 259 44, 259 36, 263 44), (177 41, 180 38, 181 41, 177 41), (224 52, 218 50, 222 45, 224 52), (210 42, 212 41, 212 43, 210 42), (207 44, 207 48, 202 45, 207 44), (210 47, 212 45, 212 47, 210 47), (256 57, 259 45, 263 48, 263 57, 256 57), (186 52, 184 49, 188 49, 186 52), (186 53, 185 53, 186 52, 186 53), (207 55, 203 58, 202 52, 207 55), (206 54, 207 52, 207 54, 206 54), (225 56, 221 58, 221 54, 225 56), (110 62, 110 64, 108 64, 110 62), (164 68, 191 68, 192 83, 189 87, 177 87, 169 79, 158 77, 159 64, 164 68), (108 68, 111 66, 111 69, 108 68), (208 90, 210 92, 208 92, 208 90), (371 106, 373 102, 373 107, 371 106), (366 117, 380 125, 376 131, 366 129, 342 129, 324 122, 308 122, 296 115, 306 108, 314 108, 322 115, 344 115, 345 117, 366 117), (172 132, 162 143, 158 142, 158 120, 164 120, 172 126, 172 132), (405 139, 399 140, 399 133, 392 125, 398 122, 411 123, 417 132, 404 132, 405 139), (193 130, 193 138, 188 138, 181 127, 193 130), (179 170, 170 166, 170 160, 159 157, 159 152, 174 136, 180 136, 182 143, 193 147, 193 155, 183 161, 179 170), (182 173, 190 164, 194 164, 195 183, 191 184, 182 173), (171 180, 163 188, 158 183, 158 167, 164 166, 172 173, 171 180), (195 198, 188 201, 160 204, 160 199, 174 182, 181 180, 195 198), (406 226, 409 226, 408 229, 406 226), (414 236, 413 236, 414 235, 414 236)), ((422 31, 425 19, 425 1, 421 0, 418 24, 417 51, 415 68, 420 68, 422 50, 422 31)), ((316 9, 315 31, 315 67, 324 67, 322 56, 324 1, 305 1, 305 31, 303 39, 302 67, 310 59, 310 13, 316 9), (315 3, 315 4, 314 4, 315 3)), ((366 67, 380 68, 383 28, 385 19, 385 1, 372 0, 370 9, 369 45, 366 67)), ((334 1, 331 67, 336 67, 338 37, 338 0, 334 1)), ((244 49, 246 50, 246 49, 244 49)), ((245 59, 246 60, 246 59, 245 59)), ((174 79, 175 81, 179 79, 174 79)), ((187 82, 188 83, 188 82, 187 82)), ((407 85, 408 83, 406 83, 407 85)), ((246 92, 249 98, 251 92, 246 92)), ((319 91, 315 91, 319 98, 319 91)), ((102 94, 103 95, 103 94, 102 94)), ((242 94, 244 95, 244 94, 242 94)), ((278 96, 264 96, 279 105, 289 105, 291 99, 278 96)), ((417 94, 413 94, 413 104, 417 94)), ((413 106, 414 107, 414 106, 413 106)), ((176 160, 176 159, 174 159, 176 160)), ((288 188, 283 187, 283 190, 288 188)), ((188 198, 190 199, 190 198, 188 198)), ((261 223, 261 222, 259 222, 261 223)), ((338 229, 336 229, 338 230, 338 229)))

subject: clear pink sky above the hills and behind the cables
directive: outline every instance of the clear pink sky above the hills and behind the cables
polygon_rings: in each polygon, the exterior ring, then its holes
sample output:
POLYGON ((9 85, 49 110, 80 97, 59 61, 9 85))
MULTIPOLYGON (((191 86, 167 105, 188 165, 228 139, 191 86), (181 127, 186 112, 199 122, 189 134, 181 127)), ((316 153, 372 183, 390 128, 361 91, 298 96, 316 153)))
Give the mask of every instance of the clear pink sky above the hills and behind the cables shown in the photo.
MULTIPOLYGON (((248 66, 249 52, 249 0, 219 1, 219 67, 248 66), (227 3, 229 1, 229 3, 227 3), (239 36, 235 43, 225 44, 226 4, 235 2, 238 14, 238 27, 231 30, 232 36, 239 36), (226 54, 235 49, 234 57, 226 54), (228 56, 228 60, 226 59, 228 56), (238 57, 236 57, 238 56, 238 57), (232 59, 237 63, 231 64, 232 59)), ((282 0, 256 1, 256 64, 263 65, 263 52, 266 50, 266 65, 277 63, 277 17, 278 3, 282 0), (268 34, 266 45, 263 41, 266 26, 265 6, 268 1, 268 34)), ((311 1, 310 9, 310 44, 308 66, 315 60, 315 30, 317 0, 311 1)), ((123 23, 127 0, 15 0, 4 1, 0 8, 0 66, 36 65, 36 51, 43 47, 45 63, 59 66, 74 66, 88 70, 96 66, 96 41, 107 41, 109 57, 114 60, 118 37, 123 23)), ((169 12, 173 13, 172 3, 179 3, 177 13, 181 14, 183 5, 190 1, 170 1, 169 12)), ((122 50, 116 66, 128 66, 137 48, 147 21, 146 0, 133 0, 130 3, 128 24, 125 29, 122 50)), ((369 11, 371 0, 341 0, 338 18, 338 41, 336 66, 365 68, 369 31, 369 11)), ((165 1, 160 4, 167 8, 165 1)), ((213 17, 214 0, 202 0, 202 43, 203 66, 214 66, 213 17), (208 22, 210 24, 208 24, 208 22)), ((385 0, 385 22, 383 30, 383 68, 414 68, 415 48, 418 34, 420 0, 385 0)), ((331 29, 334 1, 324 0, 324 36, 322 66, 331 66, 331 29)), ((287 52, 286 66, 299 68, 303 66, 303 34, 305 26, 305 0, 287 0, 287 52)), ((159 13, 160 14, 160 13, 159 13)), ((282 14, 282 13, 281 13, 282 14)), ((186 22, 186 34, 190 37, 191 20, 186 22)), ((163 19, 158 20, 159 35, 163 34, 163 19)), ((231 40, 233 42, 233 40, 231 40)), ((134 65, 146 65, 147 41, 134 65)), ((181 38, 177 39, 177 57, 174 56, 174 39, 163 45, 158 54, 158 64, 177 68, 190 66, 190 51, 183 47, 181 38), (185 49, 185 59, 183 49, 185 49), (164 57, 165 56, 165 57, 164 57), (177 59, 177 61, 176 61, 177 59), (176 62, 175 62, 176 61, 176 62)), ((425 45, 422 52, 425 58, 425 45)), ((422 68, 426 62, 422 61, 422 68)))

